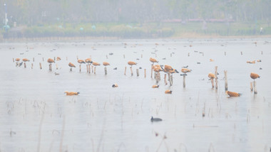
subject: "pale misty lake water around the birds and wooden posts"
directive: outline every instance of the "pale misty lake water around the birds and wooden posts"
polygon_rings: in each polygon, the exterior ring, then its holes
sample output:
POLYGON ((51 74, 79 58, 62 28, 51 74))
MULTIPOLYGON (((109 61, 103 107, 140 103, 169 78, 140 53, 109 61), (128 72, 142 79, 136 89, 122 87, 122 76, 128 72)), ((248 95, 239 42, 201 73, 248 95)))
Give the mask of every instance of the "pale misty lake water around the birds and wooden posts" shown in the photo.
POLYGON ((270 48, 268 38, 0 43, 0 151, 270 151, 270 48), (49 71, 46 60, 56 57, 49 71), (101 66, 79 72, 77 57, 101 66), (151 88, 150 57, 179 72, 188 65, 185 88, 180 73, 165 85, 164 72, 151 88), (13 58, 30 62, 16 67, 13 58), (133 76, 129 60, 138 63, 133 76), (208 80, 215 66, 218 89, 208 80), (224 70, 228 90, 240 97, 225 95, 224 70), (261 76, 257 94, 250 72, 261 76))

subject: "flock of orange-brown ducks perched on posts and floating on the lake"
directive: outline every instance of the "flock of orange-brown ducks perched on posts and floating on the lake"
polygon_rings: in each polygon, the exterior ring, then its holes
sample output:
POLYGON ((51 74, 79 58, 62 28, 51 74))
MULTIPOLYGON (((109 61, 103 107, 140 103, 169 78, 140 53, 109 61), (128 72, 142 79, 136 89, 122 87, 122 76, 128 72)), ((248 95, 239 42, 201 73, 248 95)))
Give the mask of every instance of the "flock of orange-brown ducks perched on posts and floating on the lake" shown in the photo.
MULTIPOLYGON (((29 59, 27 59, 27 58, 23 58, 21 63, 20 63, 20 60, 21 60, 20 58, 16 58, 15 60, 16 60, 16 66, 19 66, 19 67, 23 63, 29 62, 29 59)), ((59 60, 61 60, 61 58, 57 57, 56 60, 59 61, 59 60)), ((93 65, 94 67, 101 65, 100 63, 93 62, 93 60, 91 60, 91 58, 86 58, 85 60, 78 59, 77 62, 80 64, 80 66, 81 66, 81 64, 87 64, 88 66, 93 65)), ((165 72, 168 75, 173 75, 173 73, 179 73, 178 70, 171 67, 170 65, 158 65, 158 60, 156 60, 155 58, 150 58, 150 62, 152 63, 151 68, 152 68, 153 72, 155 72, 155 74, 160 75, 160 72, 165 72), (156 65, 154 65, 155 63, 156 63, 156 65)), ((210 62, 213 62, 213 59, 210 59, 210 62)), ((257 62, 261 62, 261 60, 257 60, 257 62)), ((51 65, 52 63, 55 63, 55 60, 52 58, 48 58, 47 63, 49 63, 49 65, 51 65)), ((247 63, 255 63, 255 60, 247 61, 247 63)), ((103 62, 103 65, 108 66, 108 65, 110 65, 110 63, 103 62)), ((137 65, 137 63, 133 62, 133 61, 128 61, 128 65, 130 65, 132 67, 133 65, 137 65)), ((68 66, 71 68, 76 67, 76 65, 74 65, 73 63, 68 63, 68 66)), ((182 69, 180 71, 182 72, 182 74, 180 74, 181 76, 186 76, 188 72, 192 72, 192 70, 188 69, 188 65, 185 67, 182 67, 182 69)), ((58 73, 55 73, 55 74, 59 75, 58 73)), ((212 72, 210 72, 208 74, 208 77, 210 78, 210 80, 217 79, 216 75, 212 72)), ((255 81, 255 79, 260 78, 260 75, 258 75, 255 72, 252 72, 250 74, 250 77, 255 81)), ((118 84, 113 84, 112 87, 118 87, 118 84)), ((158 88, 158 87, 159 87, 159 85, 152 86, 152 88, 158 88)), ((170 89, 165 90, 165 94, 172 94, 172 92, 173 91, 170 89)), ((80 92, 64 92, 64 93, 66 93, 66 95, 68 95, 68 96, 80 94, 80 92)), ((226 91, 225 94, 227 94, 230 97, 240 97, 240 95, 241 95, 241 93, 230 92, 230 91, 226 91)))

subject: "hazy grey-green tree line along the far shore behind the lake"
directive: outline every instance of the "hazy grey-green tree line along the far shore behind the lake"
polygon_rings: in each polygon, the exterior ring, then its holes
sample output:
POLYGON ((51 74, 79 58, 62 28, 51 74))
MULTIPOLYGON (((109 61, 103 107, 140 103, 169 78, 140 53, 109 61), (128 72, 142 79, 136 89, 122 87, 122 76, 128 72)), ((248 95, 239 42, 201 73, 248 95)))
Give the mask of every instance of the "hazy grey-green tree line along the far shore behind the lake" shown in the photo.
POLYGON ((270 0, 0 0, 0 18, 9 24, 146 23, 178 18, 268 22, 270 0), (6 6, 4 6, 6 4, 6 6))

